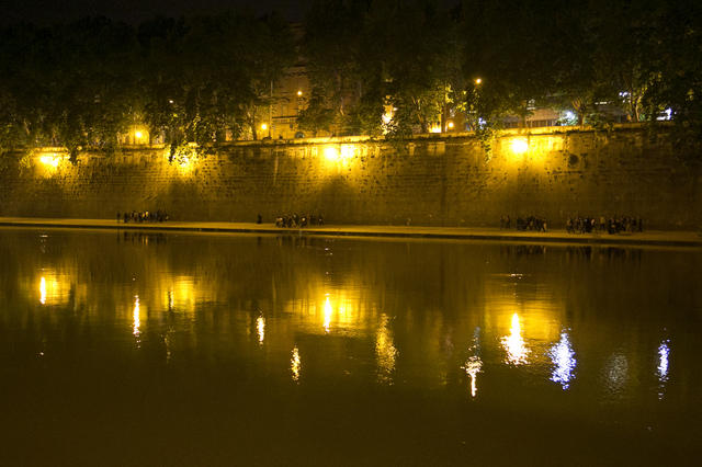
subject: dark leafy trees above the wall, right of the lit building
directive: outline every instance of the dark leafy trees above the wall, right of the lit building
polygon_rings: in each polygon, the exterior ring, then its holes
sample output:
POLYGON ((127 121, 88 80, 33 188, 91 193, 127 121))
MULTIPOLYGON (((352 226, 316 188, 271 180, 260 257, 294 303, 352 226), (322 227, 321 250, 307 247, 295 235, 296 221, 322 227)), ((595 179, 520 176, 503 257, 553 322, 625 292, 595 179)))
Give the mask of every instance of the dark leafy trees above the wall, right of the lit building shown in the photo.
MULTIPOLYGON (((320 127, 426 132, 461 113, 498 127, 534 107, 599 124, 661 116, 702 134, 702 3, 694 0, 318 0, 306 57, 320 127), (602 105, 607 102, 607 105, 602 105)), ((695 136, 697 135, 697 136, 695 136)))

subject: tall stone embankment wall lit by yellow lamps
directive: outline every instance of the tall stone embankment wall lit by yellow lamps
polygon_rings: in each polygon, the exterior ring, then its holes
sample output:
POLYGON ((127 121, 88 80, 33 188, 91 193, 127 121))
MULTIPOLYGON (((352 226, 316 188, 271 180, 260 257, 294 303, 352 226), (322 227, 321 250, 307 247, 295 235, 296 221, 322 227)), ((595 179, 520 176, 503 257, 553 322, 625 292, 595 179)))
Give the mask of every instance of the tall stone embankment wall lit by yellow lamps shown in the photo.
POLYGON ((87 152, 75 166, 44 150, 3 158, 0 215, 110 218, 160 208, 180 220, 322 213, 335 224, 497 226, 505 214, 543 216, 554 227, 570 215, 641 216, 657 228, 702 221, 702 171, 665 133, 561 129, 508 134, 491 147, 488 157, 468 135, 401 147, 336 138, 234 144, 172 163, 162 148, 87 152))

